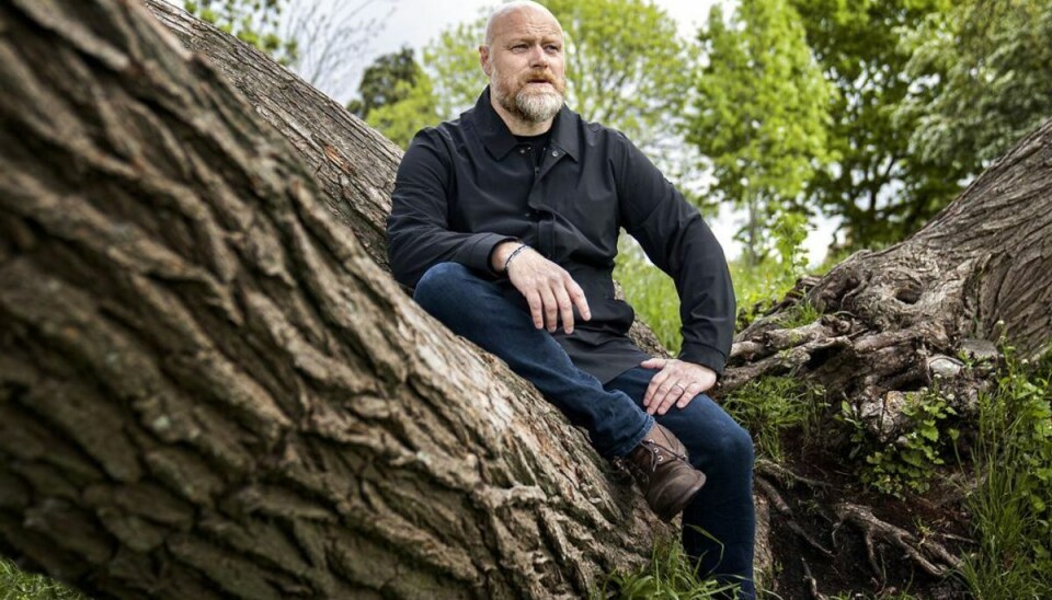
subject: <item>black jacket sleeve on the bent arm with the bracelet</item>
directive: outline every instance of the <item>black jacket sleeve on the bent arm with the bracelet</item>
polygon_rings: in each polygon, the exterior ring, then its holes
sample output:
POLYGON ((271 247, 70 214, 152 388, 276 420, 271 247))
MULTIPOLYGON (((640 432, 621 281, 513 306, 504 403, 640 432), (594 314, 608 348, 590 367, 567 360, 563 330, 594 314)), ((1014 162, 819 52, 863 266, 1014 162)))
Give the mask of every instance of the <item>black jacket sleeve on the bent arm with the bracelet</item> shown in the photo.
POLYGON ((428 268, 447 262, 492 274, 493 249, 514 240, 498 233, 451 231, 453 187, 453 163, 441 132, 433 128, 420 131, 398 168, 387 219, 387 252, 399 284, 416 287, 428 268))

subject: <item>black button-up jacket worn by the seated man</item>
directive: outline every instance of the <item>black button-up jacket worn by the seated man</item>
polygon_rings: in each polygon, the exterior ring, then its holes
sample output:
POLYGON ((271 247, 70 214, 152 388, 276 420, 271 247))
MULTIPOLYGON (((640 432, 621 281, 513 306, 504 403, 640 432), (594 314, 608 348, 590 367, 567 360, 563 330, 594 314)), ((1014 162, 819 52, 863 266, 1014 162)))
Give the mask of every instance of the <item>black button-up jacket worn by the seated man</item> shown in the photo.
POLYGON ((457 262, 491 277, 490 254, 522 240, 567 269, 592 320, 554 334, 573 362, 609 381, 643 360, 625 336, 631 307, 614 298, 624 227, 679 292, 679 358, 722 372, 734 330, 723 251, 697 209, 622 134, 563 106, 536 166, 482 92, 454 122, 420 131, 398 170, 387 221, 391 269, 414 287, 431 266, 457 262))

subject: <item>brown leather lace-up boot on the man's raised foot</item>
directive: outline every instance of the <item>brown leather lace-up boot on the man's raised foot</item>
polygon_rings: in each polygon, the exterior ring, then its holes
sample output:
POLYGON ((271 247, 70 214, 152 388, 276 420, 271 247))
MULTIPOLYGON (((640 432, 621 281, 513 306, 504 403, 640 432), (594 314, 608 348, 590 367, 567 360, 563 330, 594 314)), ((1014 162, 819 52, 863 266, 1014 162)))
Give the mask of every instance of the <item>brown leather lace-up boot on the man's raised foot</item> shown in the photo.
POLYGON ((687 449, 672 431, 656 423, 621 463, 662 521, 671 521, 683 512, 705 485, 705 473, 687 462, 687 449))

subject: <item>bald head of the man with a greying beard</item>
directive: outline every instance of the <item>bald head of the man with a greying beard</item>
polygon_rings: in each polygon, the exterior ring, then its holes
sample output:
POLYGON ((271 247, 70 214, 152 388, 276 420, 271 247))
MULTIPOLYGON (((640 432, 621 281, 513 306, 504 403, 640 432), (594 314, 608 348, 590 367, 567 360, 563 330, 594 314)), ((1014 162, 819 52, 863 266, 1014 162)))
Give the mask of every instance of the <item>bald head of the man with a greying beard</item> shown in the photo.
POLYGON ((479 58, 493 101, 513 118, 542 124, 562 107, 567 91, 562 27, 545 7, 511 2, 494 11, 479 58))

